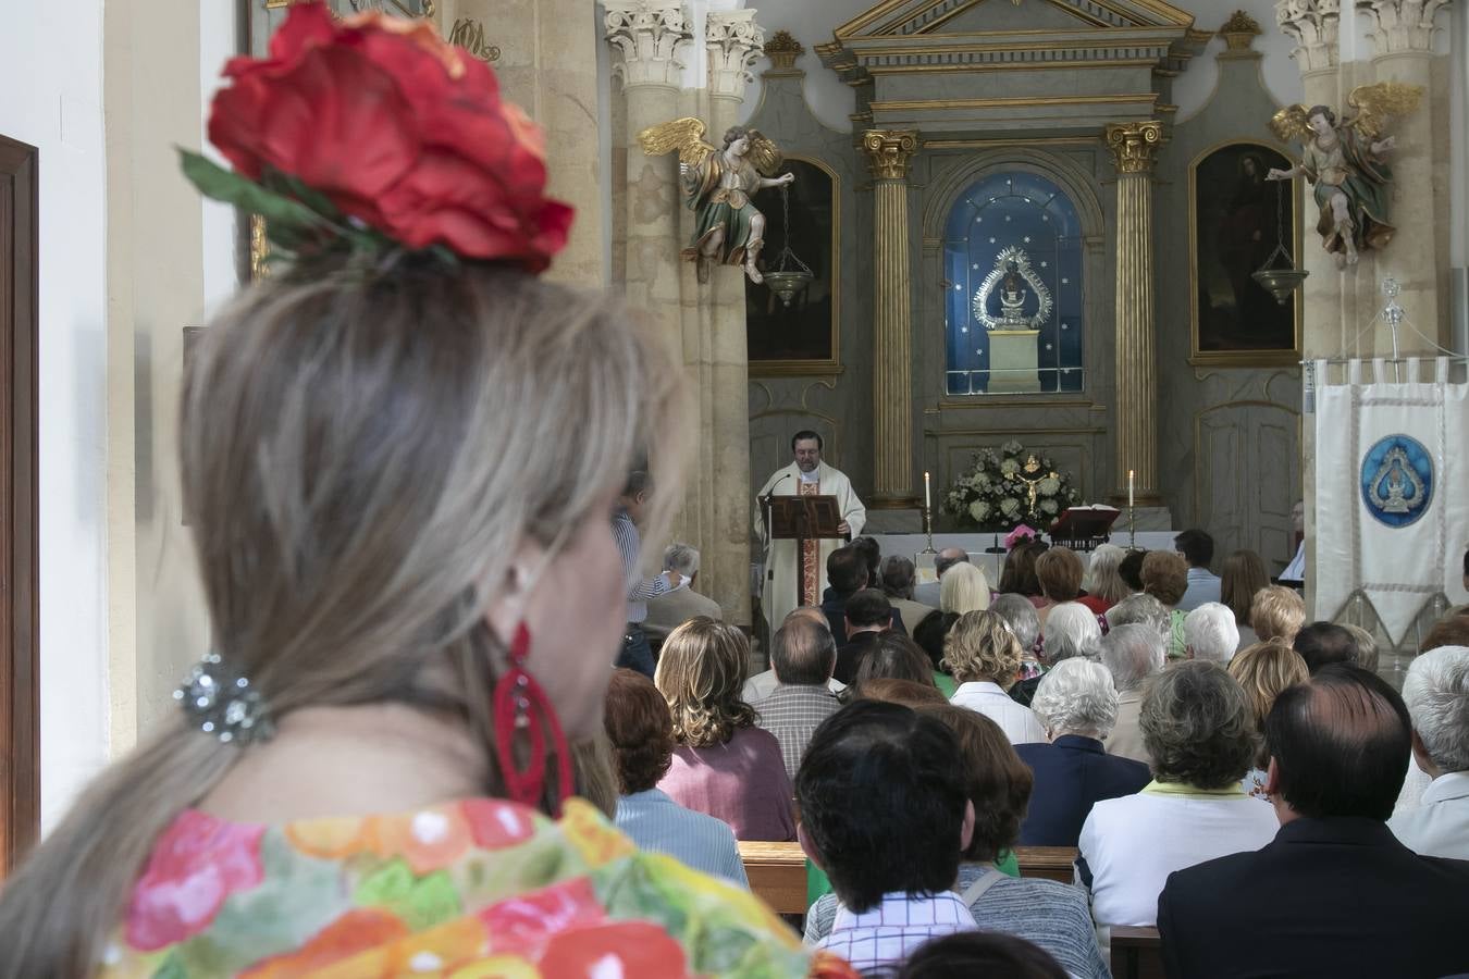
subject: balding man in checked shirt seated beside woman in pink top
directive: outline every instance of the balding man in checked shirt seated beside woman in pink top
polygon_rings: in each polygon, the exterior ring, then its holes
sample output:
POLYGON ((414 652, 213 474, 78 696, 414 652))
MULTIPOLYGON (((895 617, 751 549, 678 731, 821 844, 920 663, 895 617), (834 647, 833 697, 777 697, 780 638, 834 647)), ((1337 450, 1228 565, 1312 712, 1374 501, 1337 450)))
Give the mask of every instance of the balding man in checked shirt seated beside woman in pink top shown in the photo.
POLYGON ((770 662, 776 688, 751 706, 759 727, 780 741, 786 774, 795 778, 812 732, 842 706, 827 688, 836 669, 836 640, 821 622, 786 616, 770 640, 770 662))

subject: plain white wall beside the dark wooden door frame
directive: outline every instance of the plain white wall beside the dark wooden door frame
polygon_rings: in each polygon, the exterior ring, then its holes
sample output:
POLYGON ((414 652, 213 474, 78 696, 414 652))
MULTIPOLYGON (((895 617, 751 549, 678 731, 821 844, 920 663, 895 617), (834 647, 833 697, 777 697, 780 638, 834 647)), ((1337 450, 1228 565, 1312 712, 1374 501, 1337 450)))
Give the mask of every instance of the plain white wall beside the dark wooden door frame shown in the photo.
POLYGON ((0 134, 40 147, 41 819, 107 759, 101 0, 6 6, 0 134))

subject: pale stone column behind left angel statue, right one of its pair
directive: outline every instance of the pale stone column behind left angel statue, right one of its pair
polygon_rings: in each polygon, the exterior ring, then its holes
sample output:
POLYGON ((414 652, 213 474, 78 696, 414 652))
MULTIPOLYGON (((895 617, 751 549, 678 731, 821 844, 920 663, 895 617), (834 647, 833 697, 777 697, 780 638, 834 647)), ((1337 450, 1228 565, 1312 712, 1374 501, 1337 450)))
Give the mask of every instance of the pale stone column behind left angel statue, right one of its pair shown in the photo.
MULTIPOLYGON (((749 68, 759 57, 765 32, 755 10, 710 10, 704 22, 708 54, 710 142, 739 120, 749 68)), ((779 216, 776 216, 779 219, 779 216)), ((767 254, 771 235, 767 214, 767 254)), ((724 609, 724 621, 751 624, 749 600, 749 351, 745 335, 745 273, 715 266, 708 285, 695 283, 702 307, 701 332, 701 451, 698 474, 710 520, 699 534, 699 586, 724 609)), ((687 282, 689 277, 685 277, 687 282)), ((686 317, 685 332, 690 323, 686 317)), ((687 351, 687 345, 686 345, 687 351)))

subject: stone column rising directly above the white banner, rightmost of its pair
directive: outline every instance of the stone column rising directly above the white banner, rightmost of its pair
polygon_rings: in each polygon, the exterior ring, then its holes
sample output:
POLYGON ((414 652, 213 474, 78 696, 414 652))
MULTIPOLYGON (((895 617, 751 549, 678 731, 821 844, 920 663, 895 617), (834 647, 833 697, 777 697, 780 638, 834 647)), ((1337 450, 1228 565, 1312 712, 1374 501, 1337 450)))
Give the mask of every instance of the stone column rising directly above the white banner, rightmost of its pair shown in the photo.
MULTIPOLYGON (((1376 277, 1393 276, 1403 286, 1398 302, 1407 319, 1423 336, 1443 341, 1438 317, 1440 255, 1434 226, 1447 213, 1447 191, 1443 208, 1434 186, 1432 79, 1434 18, 1448 6, 1448 0, 1357 0, 1357 7, 1372 15, 1376 29, 1376 54, 1372 68, 1376 79, 1404 82, 1422 90, 1415 112, 1390 123, 1390 135, 1397 145, 1388 156, 1393 164, 1393 207, 1388 220, 1397 228, 1393 242, 1376 257, 1376 277)), ((1438 134, 1447 139, 1448 134, 1438 134)), ((1378 285, 1378 283, 1374 283, 1378 285)), ((1407 349, 1422 349, 1418 338, 1400 338, 1407 349)), ((1391 354, 1391 332, 1376 330, 1376 352, 1391 354)))

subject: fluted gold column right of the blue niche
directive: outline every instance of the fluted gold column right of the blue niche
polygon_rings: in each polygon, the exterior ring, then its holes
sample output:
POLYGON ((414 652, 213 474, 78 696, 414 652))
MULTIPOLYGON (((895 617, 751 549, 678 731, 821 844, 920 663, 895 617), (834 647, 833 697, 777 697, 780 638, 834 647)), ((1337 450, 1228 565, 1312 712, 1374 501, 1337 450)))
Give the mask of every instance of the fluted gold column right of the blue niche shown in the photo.
POLYGON ((1111 123, 1106 145, 1116 163, 1116 486, 1127 499, 1158 506, 1158 363, 1153 326, 1153 154, 1162 123, 1111 123))

